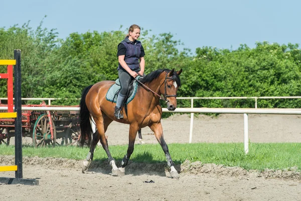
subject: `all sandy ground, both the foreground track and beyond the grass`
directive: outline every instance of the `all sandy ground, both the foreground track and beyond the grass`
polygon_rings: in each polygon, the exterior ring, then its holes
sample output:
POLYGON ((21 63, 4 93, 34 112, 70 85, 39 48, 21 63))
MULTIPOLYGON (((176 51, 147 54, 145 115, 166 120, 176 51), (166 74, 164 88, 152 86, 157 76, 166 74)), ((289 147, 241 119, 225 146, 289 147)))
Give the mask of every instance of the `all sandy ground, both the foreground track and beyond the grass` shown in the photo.
MULTIPOLYGON (((249 115, 250 141, 301 142, 300 118, 249 115)), ((172 116, 162 125, 168 144, 189 142, 188 115, 172 116)), ((200 115, 195 117, 192 141, 243 142, 243 128, 243 115, 200 115)), ((127 144, 127 132, 128 125, 112 123, 109 145, 127 144)), ((142 129, 142 136, 145 143, 158 143, 148 128, 142 129)), ((13 156, 0 158, 0 165, 13 163, 13 156)), ((123 177, 111 176, 110 166, 99 161, 93 161, 86 174, 81 172, 81 161, 24 157, 23 163, 23 177, 36 178, 39 185, 0 184, 1 200, 301 200, 301 174, 293 171, 247 172, 185 161, 176 166, 180 178, 172 179, 165 163, 130 160, 123 177)), ((14 177, 15 172, 0 172, 0 177, 6 176, 14 177)))

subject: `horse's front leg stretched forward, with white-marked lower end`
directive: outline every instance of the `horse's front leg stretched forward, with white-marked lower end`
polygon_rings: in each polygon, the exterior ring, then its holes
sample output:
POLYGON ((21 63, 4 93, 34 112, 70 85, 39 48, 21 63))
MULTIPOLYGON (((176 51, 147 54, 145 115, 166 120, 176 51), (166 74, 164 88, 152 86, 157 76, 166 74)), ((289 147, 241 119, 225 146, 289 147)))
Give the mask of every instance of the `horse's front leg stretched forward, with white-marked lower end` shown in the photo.
POLYGON ((172 178, 179 178, 180 175, 178 174, 178 171, 174 167, 174 165, 175 165, 174 161, 172 160, 172 157, 168 150, 168 146, 163 137, 163 129, 162 129, 161 123, 154 123, 153 125, 149 126, 149 128, 155 133, 155 136, 165 153, 165 156, 167 159, 167 164, 171 168, 170 173, 171 173, 172 178))

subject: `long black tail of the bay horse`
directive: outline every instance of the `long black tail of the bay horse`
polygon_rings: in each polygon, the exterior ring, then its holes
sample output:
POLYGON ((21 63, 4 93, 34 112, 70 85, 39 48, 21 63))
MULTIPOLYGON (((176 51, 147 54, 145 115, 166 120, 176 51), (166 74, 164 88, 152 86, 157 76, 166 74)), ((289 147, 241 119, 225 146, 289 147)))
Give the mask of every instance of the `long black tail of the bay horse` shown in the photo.
POLYGON ((80 139, 79 145, 84 146, 84 144, 90 145, 92 139, 92 127, 90 124, 90 112, 86 105, 86 95, 93 85, 87 86, 82 93, 80 99, 80 113, 79 113, 79 125, 80 125, 80 139))

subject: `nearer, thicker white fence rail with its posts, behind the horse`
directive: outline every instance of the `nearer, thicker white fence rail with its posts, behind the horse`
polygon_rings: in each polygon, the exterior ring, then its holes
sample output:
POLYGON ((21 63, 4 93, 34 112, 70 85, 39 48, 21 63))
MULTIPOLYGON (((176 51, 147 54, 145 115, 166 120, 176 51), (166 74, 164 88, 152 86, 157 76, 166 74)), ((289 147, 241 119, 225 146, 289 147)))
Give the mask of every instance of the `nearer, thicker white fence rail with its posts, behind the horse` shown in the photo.
MULTIPOLYGON (((7 110, 8 107, 0 107, 0 110, 7 110)), ((22 107, 23 111, 79 111, 79 107, 22 107)), ((175 111, 163 112, 191 113, 191 124, 189 143, 192 142, 194 113, 218 113, 218 114, 244 114, 244 151, 249 152, 248 144, 248 114, 277 114, 277 115, 301 115, 301 109, 236 109, 236 108, 177 108, 175 111)))

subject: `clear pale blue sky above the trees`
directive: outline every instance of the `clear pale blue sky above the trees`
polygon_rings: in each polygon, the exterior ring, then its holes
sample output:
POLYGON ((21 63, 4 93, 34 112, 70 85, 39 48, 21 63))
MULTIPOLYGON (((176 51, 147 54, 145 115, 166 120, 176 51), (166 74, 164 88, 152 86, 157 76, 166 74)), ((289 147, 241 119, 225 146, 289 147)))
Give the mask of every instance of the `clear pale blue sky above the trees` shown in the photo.
POLYGON ((65 39, 70 33, 122 31, 131 24, 152 30, 150 34, 172 33, 195 52, 197 47, 254 48, 256 42, 301 44, 301 1, 270 0, 152 0, 78 1, 14 0, 0 6, 0 27, 23 25, 29 20, 36 29, 57 29, 65 39))

